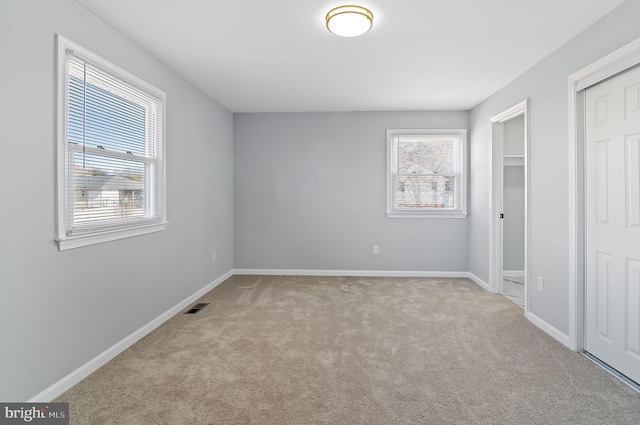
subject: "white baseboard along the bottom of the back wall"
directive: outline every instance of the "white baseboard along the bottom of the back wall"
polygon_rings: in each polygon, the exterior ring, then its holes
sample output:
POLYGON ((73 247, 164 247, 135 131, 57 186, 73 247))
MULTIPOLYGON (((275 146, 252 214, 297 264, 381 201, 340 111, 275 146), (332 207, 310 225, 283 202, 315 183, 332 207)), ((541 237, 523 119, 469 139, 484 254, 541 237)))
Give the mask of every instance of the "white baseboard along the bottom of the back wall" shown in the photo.
POLYGON ((296 269, 234 269, 237 275, 263 276, 362 276, 362 277, 466 277, 469 272, 427 272, 395 270, 296 270, 296 269))

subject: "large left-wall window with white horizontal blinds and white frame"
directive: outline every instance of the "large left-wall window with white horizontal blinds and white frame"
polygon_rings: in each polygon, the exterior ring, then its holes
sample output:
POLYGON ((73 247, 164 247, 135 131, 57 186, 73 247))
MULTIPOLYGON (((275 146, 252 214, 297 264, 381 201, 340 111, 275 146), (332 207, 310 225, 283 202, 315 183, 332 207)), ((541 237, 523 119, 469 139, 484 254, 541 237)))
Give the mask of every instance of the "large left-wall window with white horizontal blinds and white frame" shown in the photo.
POLYGON ((164 93, 58 39, 59 248, 163 230, 164 93))

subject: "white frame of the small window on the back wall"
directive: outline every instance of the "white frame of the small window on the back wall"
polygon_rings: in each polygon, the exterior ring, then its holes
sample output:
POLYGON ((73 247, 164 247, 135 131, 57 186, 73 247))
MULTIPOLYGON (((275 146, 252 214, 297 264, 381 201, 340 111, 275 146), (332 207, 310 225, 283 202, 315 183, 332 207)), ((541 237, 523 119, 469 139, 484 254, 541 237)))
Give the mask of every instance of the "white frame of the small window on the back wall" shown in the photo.
POLYGON ((467 129, 388 129, 387 130, 387 217, 389 218, 466 218, 468 214, 467 129), (398 207, 398 142, 401 138, 455 139, 454 208, 398 207))

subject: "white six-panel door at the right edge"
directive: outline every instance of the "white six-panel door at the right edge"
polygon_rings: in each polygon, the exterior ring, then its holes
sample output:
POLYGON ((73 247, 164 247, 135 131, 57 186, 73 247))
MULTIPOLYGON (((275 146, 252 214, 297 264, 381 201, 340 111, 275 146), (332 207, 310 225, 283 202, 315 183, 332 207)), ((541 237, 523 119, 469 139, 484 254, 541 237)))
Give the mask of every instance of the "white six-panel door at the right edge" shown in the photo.
POLYGON ((586 102, 585 350, 640 383, 640 69, 586 102))

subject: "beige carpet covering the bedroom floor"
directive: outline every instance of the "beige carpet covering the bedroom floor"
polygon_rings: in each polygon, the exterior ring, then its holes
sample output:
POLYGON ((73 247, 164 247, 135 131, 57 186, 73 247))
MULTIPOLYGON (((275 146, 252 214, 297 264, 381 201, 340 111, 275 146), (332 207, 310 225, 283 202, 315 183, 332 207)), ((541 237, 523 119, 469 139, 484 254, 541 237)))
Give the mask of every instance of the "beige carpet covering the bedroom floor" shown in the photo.
POLYGON ((72 424, 633 424, 640 395, 466 279, 234 276, 63 394, 72 424))

